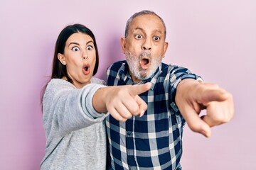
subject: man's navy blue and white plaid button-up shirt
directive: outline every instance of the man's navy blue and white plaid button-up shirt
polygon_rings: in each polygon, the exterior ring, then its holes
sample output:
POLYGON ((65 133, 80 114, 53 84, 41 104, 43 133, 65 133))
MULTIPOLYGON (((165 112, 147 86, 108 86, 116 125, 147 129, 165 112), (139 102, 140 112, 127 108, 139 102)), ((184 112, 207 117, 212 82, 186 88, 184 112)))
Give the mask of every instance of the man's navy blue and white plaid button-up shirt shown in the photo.
MULTIPOLYGON (((181 169, 182 133, 185 120, 175 105, 178 83, 201 79, 183 67, 161 63, 145 81, 152 86, 139 96, 148 104, 144 115, 119 122, 106 118, 110 169, 181 169)), ((107 69, 107 85, 134 84, 127 62, 116 62, 107 69)))

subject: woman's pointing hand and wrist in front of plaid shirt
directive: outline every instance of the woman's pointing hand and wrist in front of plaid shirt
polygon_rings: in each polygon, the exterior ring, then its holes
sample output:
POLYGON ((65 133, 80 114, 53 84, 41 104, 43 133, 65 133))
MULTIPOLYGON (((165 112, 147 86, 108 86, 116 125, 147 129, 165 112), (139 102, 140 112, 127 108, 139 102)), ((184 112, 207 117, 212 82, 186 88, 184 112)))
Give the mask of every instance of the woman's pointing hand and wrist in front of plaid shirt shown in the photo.
POLYGON ((147 105, 138 95, 150 88, 151 83, 133 86, 108 86, 99 89, 93 99, 94 107, 98 112, 107 110, 113 118, 122 122, 131 118, 132 115, 142 116, 147 105))

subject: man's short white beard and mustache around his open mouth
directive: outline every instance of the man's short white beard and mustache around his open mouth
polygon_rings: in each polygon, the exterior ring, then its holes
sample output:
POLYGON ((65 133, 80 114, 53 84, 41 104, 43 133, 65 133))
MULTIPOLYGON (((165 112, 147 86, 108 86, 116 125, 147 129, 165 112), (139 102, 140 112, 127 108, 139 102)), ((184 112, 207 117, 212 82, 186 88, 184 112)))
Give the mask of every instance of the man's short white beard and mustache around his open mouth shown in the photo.
POLYGON ((140 80, 149 79, 149 77, 156 72, 156 69, 159 67, 162 60, 161 56, 152 58, 151 52, 141 52, 139 57, 132 55, 132 52, 125 52, 125 57, 129 65, 130 72, 132 72, 134 77, 140 80), (142 67, 140 67, 139 62, 142 57, 146 57, 149 60, 150 65, 148 69, 142 69, 142 67))

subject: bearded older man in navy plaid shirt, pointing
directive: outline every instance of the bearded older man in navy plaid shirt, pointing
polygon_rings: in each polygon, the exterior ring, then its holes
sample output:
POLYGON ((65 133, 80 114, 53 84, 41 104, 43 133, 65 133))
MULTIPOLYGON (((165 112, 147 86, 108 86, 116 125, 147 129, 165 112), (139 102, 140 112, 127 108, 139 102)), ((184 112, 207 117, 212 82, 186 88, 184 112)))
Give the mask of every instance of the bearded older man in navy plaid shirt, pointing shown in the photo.
POLYGON ((107 84, 144 84, 143 116, 106 119, 110 169, 181 169, 183 125, 210 137, 210 127, 228 122, 233 98, 216 84, 203 84, 188 69, 161 62, 168 47, 164 21, 152 11, 135 13, 121 39, 126 61, 107 70, 107 84), (200 118, 202 109, 207 115, 200 118))

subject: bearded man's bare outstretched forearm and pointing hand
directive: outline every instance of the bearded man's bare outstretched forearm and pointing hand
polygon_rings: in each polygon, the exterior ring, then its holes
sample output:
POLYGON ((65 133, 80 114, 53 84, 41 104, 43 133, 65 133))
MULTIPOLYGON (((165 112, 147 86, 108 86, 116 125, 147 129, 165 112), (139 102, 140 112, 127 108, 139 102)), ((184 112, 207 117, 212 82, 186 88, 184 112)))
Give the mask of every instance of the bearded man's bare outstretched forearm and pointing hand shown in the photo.
POLYGON ((228 123, 233 118, 233 96, 216 84, 184 79, 178 84, 175 101, 188 127, 206 137, 210 137, 210 127, 228 123), (199 117, 203 109, 206 115, 199 117))

